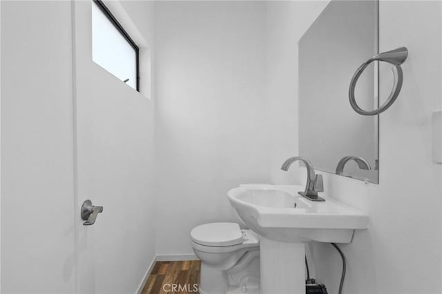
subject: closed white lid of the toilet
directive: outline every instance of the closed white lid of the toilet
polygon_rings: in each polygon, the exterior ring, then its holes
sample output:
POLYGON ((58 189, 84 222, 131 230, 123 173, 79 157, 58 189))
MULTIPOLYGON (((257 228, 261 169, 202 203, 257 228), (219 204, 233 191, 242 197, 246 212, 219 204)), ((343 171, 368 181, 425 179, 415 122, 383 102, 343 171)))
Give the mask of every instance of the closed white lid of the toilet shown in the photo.
POLYGON ((205 246, 233 246, 242 244, 242 232, 233 222, 215 222, 193 228, 191 239, 205 246))

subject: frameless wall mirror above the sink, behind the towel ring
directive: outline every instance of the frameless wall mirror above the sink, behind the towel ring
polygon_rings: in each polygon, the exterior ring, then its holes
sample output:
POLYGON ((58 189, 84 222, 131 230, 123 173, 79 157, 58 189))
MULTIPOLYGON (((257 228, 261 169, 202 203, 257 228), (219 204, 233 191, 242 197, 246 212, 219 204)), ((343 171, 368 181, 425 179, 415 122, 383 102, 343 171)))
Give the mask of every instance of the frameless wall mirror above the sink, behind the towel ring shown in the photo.
MULTIPOLYGON (((358 115, 349 104, 355 68, 378 53, 378 2, 329 2, 299 41, 299 155, 329 173, 378 183, 378 116, 358 115)), ((355 94, 378 106, 375 62, 355 94)))

